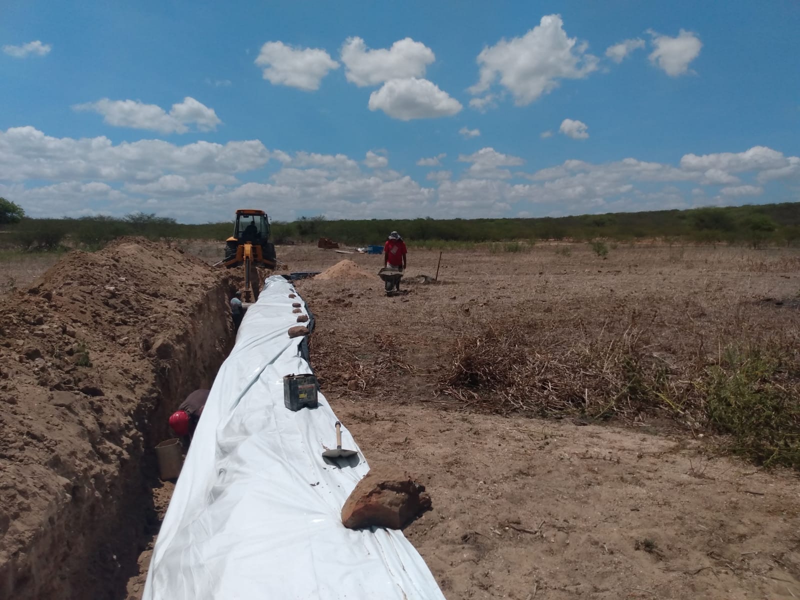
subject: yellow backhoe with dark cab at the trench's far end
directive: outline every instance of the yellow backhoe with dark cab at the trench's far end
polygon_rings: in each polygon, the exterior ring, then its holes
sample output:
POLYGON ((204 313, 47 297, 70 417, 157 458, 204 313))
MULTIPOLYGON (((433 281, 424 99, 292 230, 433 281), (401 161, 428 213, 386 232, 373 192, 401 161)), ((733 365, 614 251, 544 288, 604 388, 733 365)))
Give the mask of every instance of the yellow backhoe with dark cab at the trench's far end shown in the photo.
POLYGON ((250 294, 258 298, 258 274, 256 267, 274 269, 278 262, 275 246, 270 243, 270 222, 263 210, 240 209, 236 211, 234 234, 226 240, 225 259, 228 269, 245 267, 244 301, 250 302, 250 294))

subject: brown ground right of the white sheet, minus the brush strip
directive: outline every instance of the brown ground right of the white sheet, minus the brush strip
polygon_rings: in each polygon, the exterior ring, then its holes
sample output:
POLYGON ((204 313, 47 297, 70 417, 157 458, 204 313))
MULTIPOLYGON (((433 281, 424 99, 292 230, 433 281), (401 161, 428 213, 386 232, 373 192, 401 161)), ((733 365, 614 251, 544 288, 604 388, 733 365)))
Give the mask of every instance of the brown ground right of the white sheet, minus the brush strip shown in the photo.
MULTIPOLYGON (((442 394, 458 339, 487 323, 526 327, 554 373, 593 339, 634 330, 678 373, 732 341, 796 341, 798 254, 621 246, 602 260, 582 245, 555 250, 448 253, 441 283, 394 298, 377 276, 298 283, 334 410, 368 461, 417 470, 434 498, 406 535, 447 598, 800 596, 796 472, 721 456, 725 438, 658 408, 626 405, 597 425, 586 424, 598 422, 591 410, 542 420, 526 416, 536 406, 508 412, 442 394)), ((382 266, 300 247, 281 258, 291 270, 342 258, 382 266)), ((409 279, 434 275, 438 252, 409 258, 409 279)), ((603 382, 616 380, 578 381, 582 401, 604 398, 603 382)), ((552 383, 553 398, 573 391, 552 383)))

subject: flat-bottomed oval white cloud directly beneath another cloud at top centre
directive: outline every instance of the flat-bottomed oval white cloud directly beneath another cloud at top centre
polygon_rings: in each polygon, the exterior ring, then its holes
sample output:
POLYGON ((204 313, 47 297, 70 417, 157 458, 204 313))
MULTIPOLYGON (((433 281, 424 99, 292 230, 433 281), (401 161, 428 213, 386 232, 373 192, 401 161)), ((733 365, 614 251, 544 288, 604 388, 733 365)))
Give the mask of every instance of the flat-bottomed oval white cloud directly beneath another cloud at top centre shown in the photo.
POLYGON ((410 121, 414 118, 451 117, 461 109, 461 102, 427 79, 390 79, 380 90, 370 94, 370 110, 382 110, 391 118, 410 121))

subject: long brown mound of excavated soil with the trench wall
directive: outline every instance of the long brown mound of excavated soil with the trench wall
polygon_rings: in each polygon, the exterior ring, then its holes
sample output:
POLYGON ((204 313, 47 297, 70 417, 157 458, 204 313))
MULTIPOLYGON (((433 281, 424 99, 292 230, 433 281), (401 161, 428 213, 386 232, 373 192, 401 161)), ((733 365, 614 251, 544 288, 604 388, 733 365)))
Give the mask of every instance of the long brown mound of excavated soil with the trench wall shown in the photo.
POLYGON ((128 238, 0 298, 0 598, 124 596, 158 526, 152 448, 229 350, 229 285, 128 238))

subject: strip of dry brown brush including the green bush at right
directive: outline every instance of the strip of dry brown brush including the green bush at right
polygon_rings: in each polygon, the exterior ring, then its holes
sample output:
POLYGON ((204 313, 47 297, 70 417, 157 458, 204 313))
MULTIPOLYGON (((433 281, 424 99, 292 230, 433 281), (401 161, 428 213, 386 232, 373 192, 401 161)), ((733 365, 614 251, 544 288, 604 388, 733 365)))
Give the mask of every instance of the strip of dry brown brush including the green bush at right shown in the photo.
POLYGON ((730 338, 716 355, 699 338, 676 355, 636 318, 625 329, 564 334, 521 320, 462 335, 438 393, 498 414, 629 424, 662 416, 725 434, 730 450, 756 462, 800 467, 800 357, 790 335, 730 338))

